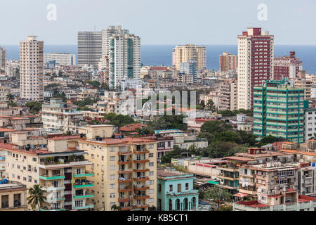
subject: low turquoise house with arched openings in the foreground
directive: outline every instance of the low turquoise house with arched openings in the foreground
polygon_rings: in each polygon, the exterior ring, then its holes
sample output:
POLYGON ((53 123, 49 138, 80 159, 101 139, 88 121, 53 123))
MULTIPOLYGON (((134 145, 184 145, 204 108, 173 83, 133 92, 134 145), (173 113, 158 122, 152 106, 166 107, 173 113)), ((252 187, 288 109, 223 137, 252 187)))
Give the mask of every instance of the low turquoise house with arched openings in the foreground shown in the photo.
POLYGON ((158 169, 157 210, 199 210, 199 191, 193 189, 193 179, 193 174, 158 169))

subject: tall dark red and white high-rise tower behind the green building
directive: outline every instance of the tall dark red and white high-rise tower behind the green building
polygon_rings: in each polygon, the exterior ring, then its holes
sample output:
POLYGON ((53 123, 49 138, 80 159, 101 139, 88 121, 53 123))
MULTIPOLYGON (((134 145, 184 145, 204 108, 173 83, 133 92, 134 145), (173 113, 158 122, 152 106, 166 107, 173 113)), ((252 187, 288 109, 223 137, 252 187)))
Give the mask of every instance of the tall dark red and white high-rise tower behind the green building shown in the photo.
POLYGON ((238 36, 237 109, 251 109, 254 86, 273 77, 274 36, 248 28, 238 36))

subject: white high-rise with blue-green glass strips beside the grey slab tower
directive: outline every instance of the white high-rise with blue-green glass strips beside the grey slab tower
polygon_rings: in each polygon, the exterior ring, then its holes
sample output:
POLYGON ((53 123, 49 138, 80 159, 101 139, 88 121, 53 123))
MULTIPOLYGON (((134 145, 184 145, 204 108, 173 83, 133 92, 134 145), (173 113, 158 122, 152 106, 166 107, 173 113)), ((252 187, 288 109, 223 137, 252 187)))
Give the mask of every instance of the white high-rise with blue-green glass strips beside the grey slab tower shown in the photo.
MULTIPOLYGON (((108 66, 111 88, 127 86, 127 80, 140 78, 140 37, 110 26, 103 30, 103 58, 101 65, 108 66)), ((127 82, 131 83, 131 82, 127 82)))

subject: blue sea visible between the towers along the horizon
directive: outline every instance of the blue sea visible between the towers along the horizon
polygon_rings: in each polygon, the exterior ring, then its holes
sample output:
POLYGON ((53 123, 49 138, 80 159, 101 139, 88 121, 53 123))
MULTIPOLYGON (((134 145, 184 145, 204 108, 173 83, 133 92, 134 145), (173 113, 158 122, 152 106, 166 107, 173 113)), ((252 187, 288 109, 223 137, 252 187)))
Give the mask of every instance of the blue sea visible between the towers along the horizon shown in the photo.
MULTIPOLYGON (((4 46, 7 51, 7 60, 19 59, 19 46, 4 46)), ((172 49, 175 45, 142 45, 140 60, 143 65, 172 64, 172 49)), ((237 45, 206 45, 206 67, 209 70, 218 70, 218 56, 227 51, 237 54, 237 45)), ((288 56, 290 51, 296 51, 296 57, 303 61, 303 70, 316 75, 316 45, 275 45, 275 57, 288 56)), ((45 45, 44 53, 72 53, 77 56, 77 45, 45 45)))

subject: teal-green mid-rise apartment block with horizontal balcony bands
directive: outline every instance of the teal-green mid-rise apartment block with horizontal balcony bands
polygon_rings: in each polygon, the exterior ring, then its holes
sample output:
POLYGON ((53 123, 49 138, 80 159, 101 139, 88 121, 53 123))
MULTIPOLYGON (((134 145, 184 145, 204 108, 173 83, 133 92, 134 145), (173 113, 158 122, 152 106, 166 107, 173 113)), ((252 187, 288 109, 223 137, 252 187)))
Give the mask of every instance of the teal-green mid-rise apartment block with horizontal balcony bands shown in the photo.
POLYGON ((253 134, 260 141, 264 136, 282 137, 304 143, 304 89, 295 87, 286 79, 267 81, 254 86, 253 134))

